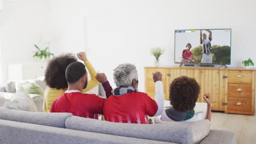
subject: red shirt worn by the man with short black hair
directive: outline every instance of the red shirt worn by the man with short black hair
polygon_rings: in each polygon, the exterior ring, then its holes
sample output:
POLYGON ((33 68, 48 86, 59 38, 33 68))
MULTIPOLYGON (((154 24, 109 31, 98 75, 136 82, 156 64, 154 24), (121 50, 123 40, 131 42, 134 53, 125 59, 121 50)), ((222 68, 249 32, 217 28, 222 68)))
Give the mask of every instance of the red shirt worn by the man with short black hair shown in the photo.
POLYGON ((105 100, 96 94, 63 93, 51 105, 51 112, 69 112, 74 116, 98 119, 98 114, 103 114, 105 100))

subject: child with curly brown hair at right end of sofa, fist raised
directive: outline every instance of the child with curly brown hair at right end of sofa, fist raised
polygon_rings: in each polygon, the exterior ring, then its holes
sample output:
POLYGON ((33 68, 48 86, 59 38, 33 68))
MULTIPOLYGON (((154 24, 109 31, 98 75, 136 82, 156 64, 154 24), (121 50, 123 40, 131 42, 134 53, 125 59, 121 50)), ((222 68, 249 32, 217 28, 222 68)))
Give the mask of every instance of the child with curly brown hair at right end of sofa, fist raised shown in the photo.
MULTIPOLYGON (((171 107, 162 111, 162 121, 182 122, 195 115, 194 107, 200 93, 200 86, 195 79, 181 76, 174 79, 170 85, 171 107)), ((211 121, 211 96, 204 94, 207 103, 205 119, 211 121)))

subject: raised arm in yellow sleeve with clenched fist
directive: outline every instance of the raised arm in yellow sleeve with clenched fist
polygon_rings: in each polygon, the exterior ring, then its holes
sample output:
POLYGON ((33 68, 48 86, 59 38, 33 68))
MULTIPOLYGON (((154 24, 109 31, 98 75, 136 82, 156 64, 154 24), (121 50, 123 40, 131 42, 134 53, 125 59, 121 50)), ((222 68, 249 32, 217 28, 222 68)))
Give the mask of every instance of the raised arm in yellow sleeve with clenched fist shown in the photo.
POLYGON ((88 81, 88 85, 85 89, 83 89, 83 93, 90 91, 92 88, 96 87, 98 85, 98 81, 96 80, 96 71, 94 67, 92 67, 91 63, 88 61, 85 52, 79 52, 77 53, 77 56, 79 59, 84 61, 85 67, 88 69, 88 72, 91 76, 91 80, 88 81))

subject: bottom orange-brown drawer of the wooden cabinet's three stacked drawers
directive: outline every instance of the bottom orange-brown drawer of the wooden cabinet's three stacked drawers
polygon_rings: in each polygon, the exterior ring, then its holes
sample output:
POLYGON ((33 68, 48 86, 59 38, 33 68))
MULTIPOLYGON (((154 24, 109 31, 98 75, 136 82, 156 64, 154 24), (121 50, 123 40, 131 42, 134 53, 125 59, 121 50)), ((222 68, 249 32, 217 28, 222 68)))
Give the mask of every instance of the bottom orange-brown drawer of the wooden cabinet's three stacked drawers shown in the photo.
POLYGON ((228 98, 228 111, 251 111, 251 99, 228 98))

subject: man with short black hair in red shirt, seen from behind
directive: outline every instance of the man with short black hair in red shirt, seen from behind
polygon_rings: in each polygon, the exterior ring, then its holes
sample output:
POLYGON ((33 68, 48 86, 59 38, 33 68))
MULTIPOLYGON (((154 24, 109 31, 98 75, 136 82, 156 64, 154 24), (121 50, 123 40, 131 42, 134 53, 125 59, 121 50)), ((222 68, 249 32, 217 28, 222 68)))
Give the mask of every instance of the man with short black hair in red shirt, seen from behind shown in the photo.
POLYGON ((68 89, 51 106, 50 112, 70 112, 74 116, 98 119, 103 114, 106 99, 96 94, 84 94, 82 89, 87 86, 87 74, 84 64, 74 62, 66 69, 68 89))

